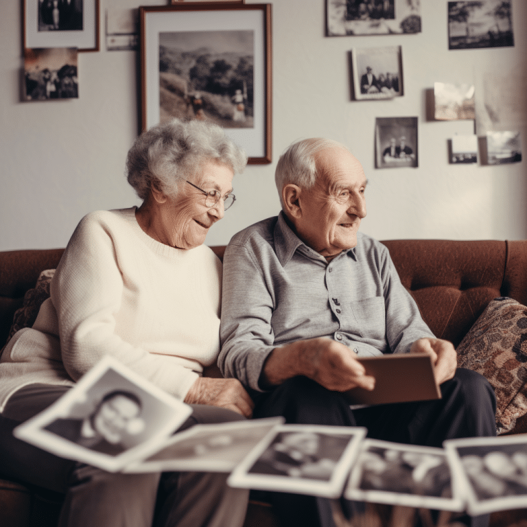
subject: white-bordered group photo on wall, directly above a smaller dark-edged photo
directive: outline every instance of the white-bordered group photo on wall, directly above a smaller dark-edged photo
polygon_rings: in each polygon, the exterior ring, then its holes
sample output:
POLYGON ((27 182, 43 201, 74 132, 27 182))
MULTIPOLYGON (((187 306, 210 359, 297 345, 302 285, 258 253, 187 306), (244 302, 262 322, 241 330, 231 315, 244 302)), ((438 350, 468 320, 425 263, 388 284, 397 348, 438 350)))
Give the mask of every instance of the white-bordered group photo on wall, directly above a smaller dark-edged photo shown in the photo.
POLYGON ((351 50, 355 99, 392 99, 403 95, 401 46, 351 50))

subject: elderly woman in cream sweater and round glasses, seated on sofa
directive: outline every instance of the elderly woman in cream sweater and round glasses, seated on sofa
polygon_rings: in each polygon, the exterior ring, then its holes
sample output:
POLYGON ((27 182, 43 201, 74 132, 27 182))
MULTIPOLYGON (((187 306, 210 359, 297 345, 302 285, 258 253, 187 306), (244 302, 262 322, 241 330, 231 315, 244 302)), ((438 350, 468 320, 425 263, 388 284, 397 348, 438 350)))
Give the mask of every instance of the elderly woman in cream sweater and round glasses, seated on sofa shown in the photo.
POLYGON ((235 379, 202 377, 220 351, 222 265, 203 245, 233 204, 246 155, 215 125, 173 120, 128 152, 141 207, 86 215, 32 328, 0 362, 4 476, 65 493, 60 526, 237 526, 247 491, 225 474, 107 473, 43 452, 13 428, 63 395, 105 354, 190 403, 183 425, 250 417, 235 379), (154 516, 155 514, 155 516, 154 516))

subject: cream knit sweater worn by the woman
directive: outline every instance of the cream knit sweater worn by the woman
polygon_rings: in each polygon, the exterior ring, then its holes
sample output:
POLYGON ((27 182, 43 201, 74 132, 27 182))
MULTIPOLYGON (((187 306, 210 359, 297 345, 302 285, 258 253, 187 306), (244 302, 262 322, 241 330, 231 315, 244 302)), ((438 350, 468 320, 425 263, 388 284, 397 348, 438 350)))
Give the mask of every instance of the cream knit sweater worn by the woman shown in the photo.
POLYGON ((109 353, 183 399, 220 351, 222 264, 207 246, 156 242, 135 207, 78 224, 32 328, 0 362, 0 412, 32 383, 71 385, 109 353))

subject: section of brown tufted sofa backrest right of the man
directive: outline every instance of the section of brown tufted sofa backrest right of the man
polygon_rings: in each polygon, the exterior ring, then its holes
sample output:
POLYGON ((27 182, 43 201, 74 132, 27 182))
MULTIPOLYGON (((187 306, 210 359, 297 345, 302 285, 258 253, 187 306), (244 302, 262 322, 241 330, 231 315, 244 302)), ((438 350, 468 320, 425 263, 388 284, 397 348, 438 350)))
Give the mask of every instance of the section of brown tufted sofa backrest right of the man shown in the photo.
POLYGON ((456 347, 493 298, 511 296, 527 303, 527 241, 383 243, 434 335, 456 347))

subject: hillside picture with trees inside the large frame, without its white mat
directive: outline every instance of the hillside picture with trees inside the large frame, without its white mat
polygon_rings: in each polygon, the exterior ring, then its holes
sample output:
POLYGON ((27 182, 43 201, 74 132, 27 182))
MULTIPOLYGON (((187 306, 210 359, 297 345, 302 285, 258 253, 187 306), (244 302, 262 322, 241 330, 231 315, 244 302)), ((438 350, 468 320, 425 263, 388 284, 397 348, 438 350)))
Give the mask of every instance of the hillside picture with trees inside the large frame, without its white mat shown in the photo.
POLYGON ((159 34, 159 117, 253 128, 253 31, 159 34))

